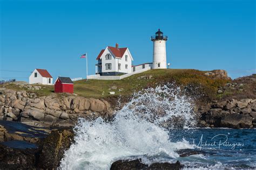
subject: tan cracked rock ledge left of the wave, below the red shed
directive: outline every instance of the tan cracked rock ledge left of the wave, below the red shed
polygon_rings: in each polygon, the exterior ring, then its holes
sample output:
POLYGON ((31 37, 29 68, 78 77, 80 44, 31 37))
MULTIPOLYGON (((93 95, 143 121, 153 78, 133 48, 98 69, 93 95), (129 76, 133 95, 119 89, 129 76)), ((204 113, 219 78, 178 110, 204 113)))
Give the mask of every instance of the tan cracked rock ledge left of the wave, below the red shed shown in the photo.
POLYGON ((31 126, 73 126, 78 117, 112 116, 109 102, 56 94, 37 97, 35 93, 0 88, 0 120, 31 126))

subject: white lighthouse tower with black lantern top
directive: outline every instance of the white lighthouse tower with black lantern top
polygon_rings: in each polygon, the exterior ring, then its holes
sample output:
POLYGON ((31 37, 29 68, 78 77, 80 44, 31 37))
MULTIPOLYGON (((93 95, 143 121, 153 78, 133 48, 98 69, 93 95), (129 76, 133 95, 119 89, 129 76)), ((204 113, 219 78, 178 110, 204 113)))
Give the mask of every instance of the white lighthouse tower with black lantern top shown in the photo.
POLYGON ((166 68, 165 43, 167 39, 167 36, 164 36, 160 29, 156 32, 156 36, 151 37, 151 41, 153 41, 154 44, 152 69, 166 68))

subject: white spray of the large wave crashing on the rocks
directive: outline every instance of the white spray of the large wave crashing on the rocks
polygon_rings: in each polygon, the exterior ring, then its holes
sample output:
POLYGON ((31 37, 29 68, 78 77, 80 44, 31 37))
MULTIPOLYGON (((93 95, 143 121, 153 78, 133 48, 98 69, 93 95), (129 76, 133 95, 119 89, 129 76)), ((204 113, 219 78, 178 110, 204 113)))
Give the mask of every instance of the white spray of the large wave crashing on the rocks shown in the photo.
POLYGON ((178 158, 174 151, 192 148, 187 141, 172 142, 170 128, 195 124, 190 98, 174 86, 159 86, 135 93, 115 113, 112 122, 101 117, 80 118, 75 143, 65 152, 61 169, 109 169, 112 162, 127 158, 166 161, 178 158), (164 155, 161 157, 161 155, 164 155))

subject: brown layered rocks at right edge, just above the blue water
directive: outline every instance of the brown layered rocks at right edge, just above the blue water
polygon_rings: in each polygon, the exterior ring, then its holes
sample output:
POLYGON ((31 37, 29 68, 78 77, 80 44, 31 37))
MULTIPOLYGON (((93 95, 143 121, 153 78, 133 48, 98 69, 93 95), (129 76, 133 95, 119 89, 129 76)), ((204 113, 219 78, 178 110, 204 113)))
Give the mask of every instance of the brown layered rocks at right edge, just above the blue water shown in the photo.
POLYGON ((206 107, 199 107, 202 126, 215 128, 255 128, 256 100, 244 98, 240 101, 212 101, 206 107))

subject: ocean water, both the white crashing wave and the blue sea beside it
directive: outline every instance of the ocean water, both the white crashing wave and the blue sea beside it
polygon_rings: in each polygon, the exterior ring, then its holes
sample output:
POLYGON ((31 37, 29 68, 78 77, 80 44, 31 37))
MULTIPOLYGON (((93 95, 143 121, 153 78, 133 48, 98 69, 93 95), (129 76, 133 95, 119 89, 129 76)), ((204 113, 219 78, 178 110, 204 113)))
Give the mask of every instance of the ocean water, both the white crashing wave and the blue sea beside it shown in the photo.
POLYGON ((79 119, 59 169, 110 169, 120 159, 176 162, 185 168, 254 168, 255 130, 198 129, 193 98, 173 84, 133 95, 113 121, 79 119), (194 152, 180 157, 179 152, 194 152))

